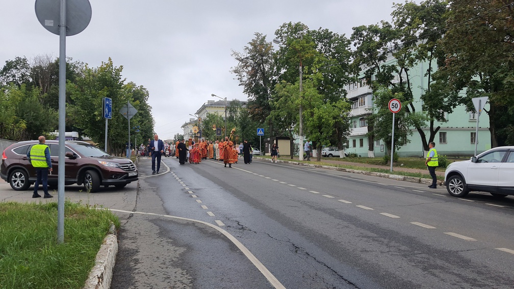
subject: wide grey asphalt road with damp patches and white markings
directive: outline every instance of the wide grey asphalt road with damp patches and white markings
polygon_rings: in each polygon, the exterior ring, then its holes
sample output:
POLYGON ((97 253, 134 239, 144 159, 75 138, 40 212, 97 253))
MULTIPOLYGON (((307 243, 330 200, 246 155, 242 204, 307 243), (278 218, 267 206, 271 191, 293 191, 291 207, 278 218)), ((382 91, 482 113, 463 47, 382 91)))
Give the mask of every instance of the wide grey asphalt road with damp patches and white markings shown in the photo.
POLYGON ((443 188, 269 160, 231 169, 162 161, 152 175, 150 159, 139 160, 137 188, 89 194, 109 196, 105 205, 122 216, 112 288, 514 284, 512 196, 459 199, 443 188))

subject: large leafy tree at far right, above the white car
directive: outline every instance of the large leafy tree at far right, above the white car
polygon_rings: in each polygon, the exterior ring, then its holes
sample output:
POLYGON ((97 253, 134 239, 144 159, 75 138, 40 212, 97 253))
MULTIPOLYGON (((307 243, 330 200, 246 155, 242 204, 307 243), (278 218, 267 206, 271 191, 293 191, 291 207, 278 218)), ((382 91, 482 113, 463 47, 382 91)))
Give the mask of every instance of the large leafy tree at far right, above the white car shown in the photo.
POLYGON ((514 4, 510 0, 453 0, 440 68, 448 84, 466 88, 462 101, 489 97, 491 146, 514 145, 514 4))

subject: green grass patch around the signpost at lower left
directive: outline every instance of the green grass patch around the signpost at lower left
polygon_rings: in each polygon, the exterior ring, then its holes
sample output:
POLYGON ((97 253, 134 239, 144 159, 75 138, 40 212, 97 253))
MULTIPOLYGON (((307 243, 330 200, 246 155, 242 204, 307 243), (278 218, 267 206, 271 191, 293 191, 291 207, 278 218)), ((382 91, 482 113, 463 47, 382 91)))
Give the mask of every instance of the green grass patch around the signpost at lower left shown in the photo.
POLYGON ((0 203, 0 288, 81 288, 118 217, 96 206, 64 206, 57 244, 57 203, 0 203))

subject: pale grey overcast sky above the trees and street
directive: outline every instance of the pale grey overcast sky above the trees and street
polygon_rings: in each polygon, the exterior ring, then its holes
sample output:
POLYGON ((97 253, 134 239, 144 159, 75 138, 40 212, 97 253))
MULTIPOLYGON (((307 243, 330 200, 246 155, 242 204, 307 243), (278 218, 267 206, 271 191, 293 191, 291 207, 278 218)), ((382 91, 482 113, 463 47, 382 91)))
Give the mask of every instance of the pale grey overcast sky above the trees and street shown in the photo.
MULTIPOLYGON (((66 56, 90 67, 111 57, 123 66, 123 78, 148 89, 161 139, 182 133, 189 114, 207 100, 219 100, 211 94, 247 100, 230 73, 237 64, 231 50, 242 51, 255 32, 271 42, 283 23, 302 22, 350 37, 354 26, 390 21, 393 6, 391 0, 89 2, 91 21, 66 38, 66 56)), ((38 22, 34 3, 0 0, 0 67, 15 57, 59 56, 59 36, 38 22)))

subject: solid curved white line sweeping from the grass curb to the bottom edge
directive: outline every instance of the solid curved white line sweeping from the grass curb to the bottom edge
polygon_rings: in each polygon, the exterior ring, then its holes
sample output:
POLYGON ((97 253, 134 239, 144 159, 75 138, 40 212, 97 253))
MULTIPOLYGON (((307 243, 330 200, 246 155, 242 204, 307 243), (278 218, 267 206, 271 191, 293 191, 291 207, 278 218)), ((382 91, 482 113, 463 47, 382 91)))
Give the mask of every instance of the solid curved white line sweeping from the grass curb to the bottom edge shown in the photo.
MULTIPOLYGON (((196 200, 196 201, 199 201, 199 200, 196 200)), ((273 285, 277 289, 285 289, 284 285, 282 285, 282 283, 280 283, 280 281, 275 276, 273 276, 273 274, 271 274, 271 272, 269 272, 269 270, 261 263, 261 261, 259 261, 259 259, 255 258, 255 256, 253 256, 253 254, 250 252, 250 250, 248 250, 248 248, 246 248, 241 242, 239 242, 237 239, 235 239, 235 237, 232 236, 229 232, 225 231, 224 229, 222 229, 222 228, 220 228, 218 226, 215 226, 213 224, 210 224, 210 223, 207 223, 207 222, 204 222, 204 221, 187 219, 187 218, 182 218, 182 217, 179 217, 179 216, 156 214, 156 213, 146 213, 146 212, 133 212, 133 211, 116 210, 116 209, 109 209, 109 210, 117 211, 117 212, 122 212, 122 213, 130 213, 130 214, 156 215, 156 216, 162 216, 162 217, 165 217, 165 218, 171 218, 171 219, 178 219, 178 220, 185 220, 185 221, 190 221, 190 222, 196 222, 196 223, 200 223, 200 224, 204 224, 206 226, 209 226, 209 227, 217 230, 218 232, 221 232, 233 244, 235 244, 237 246, 237 248, 239 248, 243 252, 243 254, 245 254, 246 258, 248 258, 248 260, 250 260, 252 262, 252 264, 256 268, 259 269, 259 271, 262 273, 262 275, 264 275, 266 277, 266 279, 268 279, 268 281, 271 283, 271 285, 273 285)))

